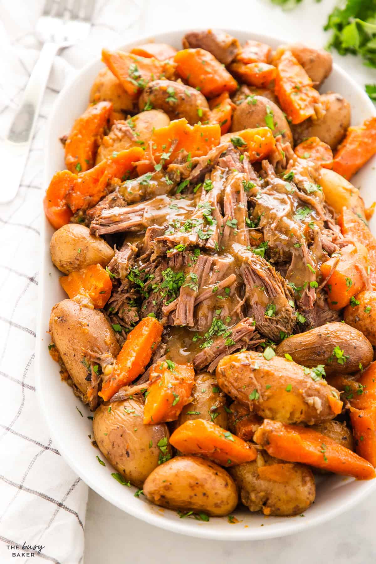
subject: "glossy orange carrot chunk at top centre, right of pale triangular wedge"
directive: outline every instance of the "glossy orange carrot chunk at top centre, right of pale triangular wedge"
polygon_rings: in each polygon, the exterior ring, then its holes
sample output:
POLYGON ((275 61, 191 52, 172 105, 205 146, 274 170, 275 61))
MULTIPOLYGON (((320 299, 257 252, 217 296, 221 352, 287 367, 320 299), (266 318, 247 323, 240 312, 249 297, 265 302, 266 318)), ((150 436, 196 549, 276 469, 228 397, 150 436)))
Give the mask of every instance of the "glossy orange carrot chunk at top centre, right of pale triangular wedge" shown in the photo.
POLYGON ((207 98, 235 92, 237 83, 214 55, 204 49, 183 49, 174 58, 176 72, 207 98))

